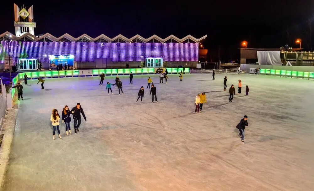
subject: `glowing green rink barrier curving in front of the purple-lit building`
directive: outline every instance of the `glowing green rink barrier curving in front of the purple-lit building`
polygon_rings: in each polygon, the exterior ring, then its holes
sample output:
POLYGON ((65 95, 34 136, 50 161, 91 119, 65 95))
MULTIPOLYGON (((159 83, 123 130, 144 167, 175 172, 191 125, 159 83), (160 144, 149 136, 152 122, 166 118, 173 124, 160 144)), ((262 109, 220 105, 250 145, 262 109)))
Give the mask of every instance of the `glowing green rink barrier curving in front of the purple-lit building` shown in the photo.
MULTIPOLYGON (((177 74, 183 68, 166 68, 169 74, 177 74)), ((36 71, 36 72, 22 72, 12 79, 14 86, 19 80, 24 80, 24 74, 30 79, 37 78, 67 78, 67 77, 86 77, 86 76, 99 76, 101 73, 105 75, 134 75, 155 74, 154 68, 119 68, 119 69, 92 69, 92 70, 49 70, 49 71, 36 71)), ((185 73, 190 73, 190 68, 184 69, 185 73)), ((11 97, 13 100, 15 88, 10 89, 11 97)))

